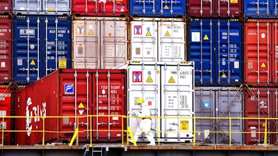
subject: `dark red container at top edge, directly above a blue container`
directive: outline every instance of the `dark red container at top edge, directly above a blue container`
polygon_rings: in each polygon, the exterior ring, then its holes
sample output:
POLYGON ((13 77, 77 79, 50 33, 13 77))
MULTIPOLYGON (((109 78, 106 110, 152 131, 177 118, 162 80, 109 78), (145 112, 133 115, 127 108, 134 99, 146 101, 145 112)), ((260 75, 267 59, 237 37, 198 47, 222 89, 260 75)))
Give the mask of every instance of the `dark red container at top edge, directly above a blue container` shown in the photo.
POLYGON ((243 4, 241 0, 196 1, 187 0, 188 17, 241 17, 243 4))

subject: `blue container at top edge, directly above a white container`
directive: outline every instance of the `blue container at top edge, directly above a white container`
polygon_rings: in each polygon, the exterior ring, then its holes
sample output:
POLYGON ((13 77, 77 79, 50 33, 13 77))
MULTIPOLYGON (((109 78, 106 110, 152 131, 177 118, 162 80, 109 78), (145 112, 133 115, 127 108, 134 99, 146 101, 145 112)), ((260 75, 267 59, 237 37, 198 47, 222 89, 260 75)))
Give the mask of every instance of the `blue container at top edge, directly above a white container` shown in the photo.
POLYGON ((131 17, 186 17, 186 0, 130 0, 131 17))

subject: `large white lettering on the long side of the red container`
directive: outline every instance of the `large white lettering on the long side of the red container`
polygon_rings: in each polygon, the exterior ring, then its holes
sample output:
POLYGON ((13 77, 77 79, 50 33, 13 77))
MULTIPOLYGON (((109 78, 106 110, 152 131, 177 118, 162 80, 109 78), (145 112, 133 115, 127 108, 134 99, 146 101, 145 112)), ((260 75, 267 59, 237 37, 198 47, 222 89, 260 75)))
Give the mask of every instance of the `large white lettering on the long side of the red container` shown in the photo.
POLYGON ((33 128, 38 130, 38 125, 35 126, 35 123, 40 122, 40 119, 43 120, 44 117, 47 116, 47 103, 44 102, 33 107, 31 105, 33 105, 32 99, 28 97, 26 101, 26 134, 28 137, 30 137, 33 128))

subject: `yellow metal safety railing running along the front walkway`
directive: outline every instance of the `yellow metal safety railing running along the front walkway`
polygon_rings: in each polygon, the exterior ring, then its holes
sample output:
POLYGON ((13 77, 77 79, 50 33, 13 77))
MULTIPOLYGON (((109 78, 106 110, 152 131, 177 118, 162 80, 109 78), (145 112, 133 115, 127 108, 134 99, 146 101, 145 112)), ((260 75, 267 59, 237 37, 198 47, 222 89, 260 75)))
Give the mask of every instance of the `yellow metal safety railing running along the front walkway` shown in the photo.
MULTIPOLYGON (((129 119, 131 118, 135 118, 134 116, 121 116, 121 115, 89 115, 89 116, 1 116, 1 142, 2 144, 4 143, 4 135, 6 132, 14 132, 14 133, 17 133, 17 132, 42 132, 42 146, 45 145, 45 142, 47 142, 47 140, 45 140, 45 135, 46 134, 49 134, 49 133, 54 133, 58 136, 58 134, 67 134, 67 133, 70 133, 70 134, 74 134, 72 135, 71 139, 70 139, 70 144, 69 146, 72 146, 75 142, 75 146, 79 146, 79 135, 82 133, 82 132, 88 132, 90 134, 90 146, 93 146, 93 144, 95 143, 94 142, 94 139, 92 138, 92 133, 93 132, 97 132, 97 130, 95 130, 93 127, 92 127, 92 121, 95 117, 115 117, 115 118, 118 118, 122 123, 121 123, 121 128, 120 130, 119 129, 110 129, 110 130, 98 130, 98 132, 119 132, 122 134, 122 137, 121 137, 121 146, 124 147, 125 145, 129 145, 129 137, 134 141, 133 139, 133 133, 136 132, 136 130, 131 130, 131 128, 129 128, 129 119), (88 128, 88 130, 81 130, 81 128, 79 128, 79 123, 80 123, 80 120, 83 119, 83 118, 89 118, 89 121, 90 121, 90 126, 88 128), (4 123, 6 121, 8 121, 8 119, 15 119, 15 123, 17 123, 17 119, 34 119, 34 118, 40 118, 40 121, 42 121, 42 128, 41 129, 38 129, 38 130, 26 130, 26 129, 22 129, 22 130, 7 130, 6 127, 8 127, 8 125, 4 125, 4 123), (49 130, 49 128, 46 128, 46 123, 45 123, 45 120, 46 119, 57 119, 57 121, 59 121, 60 119, 63 119, 63 118, 67 118, 67 119, 76 119, 76 128, 75 130, 70 130, 70 131, 58 131, 59 128, 56 128, 57 130, 49 130)), ((193 134, 193 142, 192 142, 192 146, 195 146, 197 144, 197 141, 196 141, 196 134, 204 134, 205 132, 204 131, 198 131, 197 130, 197 125, 196 125, 196 122, 197 120, 200 120, 200 119, 203 119, 203 120, 216 120, 216 121, 222 121, 222 120, 228 120, 229 121, 229 130, 227 132, 225 131, 213 131, 211 130, 209 133, 210 134, 217 134, 217 133, 225 133, 225 134, 229 134, 229 146, 232 146, 233 143, 231 142, 232 138, 232 134, 236 134, 236 133, 241 133, 242 135, 245 135, 245 134, 256 134, 256 135, 263 135, 263 145, 264 146, 268 146, 268 135, 277 135, 278 136, 278 132, 276 131, 271 131, 270 128, 268 127, 269 123, 270 123, 270 120, 273 120, 273 121, 278 121, 278 118, 243 118, 243 117, 198 117, 198 116, 195 116, 195 117, 188 117, 188 116, 152 116, 152 119, 153 120, 157 120, 157 127, 158 128, 161 128, 161 121, 162 120, 165 120, 165 119, 177 119, 178 121, 181 121, 181 120, 190 120, 192 122, 193 125, 189 125, 190 128, 189 130, 186 130, 186 132, 188 133, 192 133, 193 134), (254 121, 261 121, 263 122, 264 126, 264 130, 263 132, 261 131, 256 131, 256 132, 251 132, 251 131, 233 131, 232 130, 232 121, 233 120, 240 120, 241 122, 240 123, 244 123, 245 120, 254 120, 254 121), (192 127, 191 127, 192 126, 192 127)), ((138 120, 140 120, 140 117, 138 117, 138 120)), ((22 123, 21 123, 22 124, 22 123)), ((62 124, 62 123, 60 123, 62 124)), ((108 123, 109 124, 109 123, 108 123)), ((190 124, 190 123, 188 123, 190 124)), ((277 124, 277 123, 276 123, 277 124)), ((243 128, 244 128, 244 124, 242 125, 243 128)), ((84 129, 84 128, 83 128, 84 129)), ((261 127, 260 127, 261 129, 261 127)), ((180 132, 181 130, 172 130, 171 132, 172 133, 177 133, 177 132, 180 132)), ((165 130, 156 130, 156 133, 157 133, 157 146, 160 146, 161 144, 161 134, 165 134, 165 133, 170 133, 168 131, 165 131, 165 130)), ((135 143, 135 142, 134 142, 135 143)), ((136 146, 136 143, 134 144, 136 146)), ((3 144, 3 146, 5 146, 3 144)))

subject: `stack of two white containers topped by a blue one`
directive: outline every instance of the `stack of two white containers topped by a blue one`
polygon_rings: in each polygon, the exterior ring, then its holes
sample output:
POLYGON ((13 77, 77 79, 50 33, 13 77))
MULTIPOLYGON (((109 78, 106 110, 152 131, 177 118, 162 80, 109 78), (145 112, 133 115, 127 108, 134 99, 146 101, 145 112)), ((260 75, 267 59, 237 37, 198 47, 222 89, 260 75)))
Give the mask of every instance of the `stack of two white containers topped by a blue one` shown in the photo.
MULTIPOLYGON (((129 8, 128 110, 138 113, 136 101, 144 98, 156 138, 192 141, 194 63, 185 62, 186 1, 131 0, 129 8)), ((135 132, 138 121, 129 119, 129 126, 135 132)), ((144 134, 139 141, 147 141, 144 134)))

